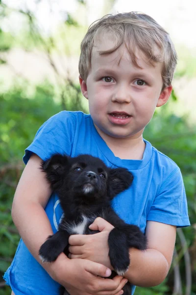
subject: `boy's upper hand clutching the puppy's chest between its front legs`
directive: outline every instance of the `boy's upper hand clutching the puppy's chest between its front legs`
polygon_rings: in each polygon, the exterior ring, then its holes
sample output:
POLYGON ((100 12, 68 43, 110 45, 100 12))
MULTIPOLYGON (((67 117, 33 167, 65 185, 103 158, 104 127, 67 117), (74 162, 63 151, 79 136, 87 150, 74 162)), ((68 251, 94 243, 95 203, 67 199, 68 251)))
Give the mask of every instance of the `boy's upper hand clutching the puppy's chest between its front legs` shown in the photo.
POLYGON ((98 217, 89 228, 100 231, 100 233, 70 236, 69 258, 88 259, 113 269, 108 256, 108 235, 114 227, 106 220, 98 217))

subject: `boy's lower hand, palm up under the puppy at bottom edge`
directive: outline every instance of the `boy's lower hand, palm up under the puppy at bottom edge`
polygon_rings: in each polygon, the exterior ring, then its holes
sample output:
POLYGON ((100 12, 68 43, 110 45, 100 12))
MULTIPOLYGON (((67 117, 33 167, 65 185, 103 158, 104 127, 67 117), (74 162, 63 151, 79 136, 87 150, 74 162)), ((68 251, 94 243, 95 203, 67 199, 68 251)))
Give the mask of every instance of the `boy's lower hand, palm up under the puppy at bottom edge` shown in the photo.
POLYGON ((127 282, 122 276, 107 279, 110 269, 85 259, 61 260, 53 270, 70 295, 120 295, 127 282))

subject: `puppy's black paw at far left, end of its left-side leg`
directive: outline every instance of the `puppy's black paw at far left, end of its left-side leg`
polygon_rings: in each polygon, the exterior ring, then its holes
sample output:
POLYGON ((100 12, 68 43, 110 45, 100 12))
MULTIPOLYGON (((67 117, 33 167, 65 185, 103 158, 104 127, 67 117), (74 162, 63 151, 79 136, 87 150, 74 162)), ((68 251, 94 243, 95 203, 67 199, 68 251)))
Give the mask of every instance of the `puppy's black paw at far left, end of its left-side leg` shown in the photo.
POLYGON ((53 262, 59 256, 59 243, 57 240, 49 239, 40 247, 39 257, 42 262, 53 262))

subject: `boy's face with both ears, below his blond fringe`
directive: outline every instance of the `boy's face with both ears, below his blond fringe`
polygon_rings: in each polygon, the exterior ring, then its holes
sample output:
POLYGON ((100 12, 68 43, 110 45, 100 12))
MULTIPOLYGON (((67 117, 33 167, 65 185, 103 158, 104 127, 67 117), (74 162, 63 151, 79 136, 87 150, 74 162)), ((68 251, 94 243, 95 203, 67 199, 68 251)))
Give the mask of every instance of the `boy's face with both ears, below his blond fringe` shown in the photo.
POLYGON ((107 142, 114 138, 141 137, 155 108, 165 104, 172 86, 162 90, 162 64, 152 66, 138 52, 132 63, 127 50, 120 47, 109 55, 99 55, 114 43, 108 38, 93 50, 86 83, 80 78, 83 95, 98 133, 107 142))

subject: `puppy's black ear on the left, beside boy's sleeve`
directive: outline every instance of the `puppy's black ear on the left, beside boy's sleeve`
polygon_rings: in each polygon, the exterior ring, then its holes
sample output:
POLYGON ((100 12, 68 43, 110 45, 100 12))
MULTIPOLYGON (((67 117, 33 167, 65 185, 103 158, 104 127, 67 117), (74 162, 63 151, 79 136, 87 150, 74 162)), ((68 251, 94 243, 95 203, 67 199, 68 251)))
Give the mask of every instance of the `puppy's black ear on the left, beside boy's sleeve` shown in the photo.
POLYGON ((68 162, 69 157, 61 154, 54 154, 48 160, 42 161, 41 169, 46 172, 46 178, 53 190, 61 185, 68 162))

